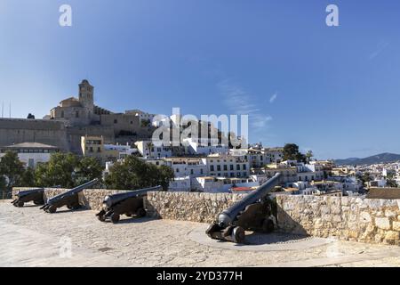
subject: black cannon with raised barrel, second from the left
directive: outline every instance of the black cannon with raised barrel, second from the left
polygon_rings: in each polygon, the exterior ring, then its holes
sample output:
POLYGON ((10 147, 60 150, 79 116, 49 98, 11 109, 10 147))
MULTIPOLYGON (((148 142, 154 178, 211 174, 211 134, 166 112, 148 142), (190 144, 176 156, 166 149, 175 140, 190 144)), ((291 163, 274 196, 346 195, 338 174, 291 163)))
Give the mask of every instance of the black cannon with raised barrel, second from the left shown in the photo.
POLYGON ((68 209, 72 210, 81 208, 81 205, 79 204, 78 193, 80 191, 84 191, 84 189, 86 188, 92 187, 92 185, 98 182, 99 179, 93 179, 88 183, 84 183, 74 189, 54 196, 53 198, 48 199, 44 206, 41 207, 41 209, 43 209, 47 213, 55 213, 57 211, 57 208, 61 208, 63 206, 67 206, 68 209))

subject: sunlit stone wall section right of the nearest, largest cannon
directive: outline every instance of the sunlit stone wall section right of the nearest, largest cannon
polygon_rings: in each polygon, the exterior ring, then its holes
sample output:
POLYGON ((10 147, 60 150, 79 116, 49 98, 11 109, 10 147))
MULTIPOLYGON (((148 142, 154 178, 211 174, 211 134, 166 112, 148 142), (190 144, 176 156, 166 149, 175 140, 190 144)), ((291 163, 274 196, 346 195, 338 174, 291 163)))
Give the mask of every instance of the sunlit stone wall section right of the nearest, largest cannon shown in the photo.
POLYGON ((284 232, 400 245, 400 199, 279 195, 284 232))

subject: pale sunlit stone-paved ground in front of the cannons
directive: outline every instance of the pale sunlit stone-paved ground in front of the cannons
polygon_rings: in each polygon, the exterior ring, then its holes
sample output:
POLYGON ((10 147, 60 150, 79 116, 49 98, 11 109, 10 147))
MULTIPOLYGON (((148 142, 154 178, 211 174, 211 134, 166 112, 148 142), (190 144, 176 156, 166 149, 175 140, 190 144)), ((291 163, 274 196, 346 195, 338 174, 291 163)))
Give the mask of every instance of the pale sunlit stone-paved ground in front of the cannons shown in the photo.
POLYGON ((0 266, 400 266, 399 247, 322 239, 282 243, 274 240, 279 236, 237 247, 203 238, 206 224, 148 218, 103 224, 94 214, 63 208, 47 214, 0 201, 0 266))

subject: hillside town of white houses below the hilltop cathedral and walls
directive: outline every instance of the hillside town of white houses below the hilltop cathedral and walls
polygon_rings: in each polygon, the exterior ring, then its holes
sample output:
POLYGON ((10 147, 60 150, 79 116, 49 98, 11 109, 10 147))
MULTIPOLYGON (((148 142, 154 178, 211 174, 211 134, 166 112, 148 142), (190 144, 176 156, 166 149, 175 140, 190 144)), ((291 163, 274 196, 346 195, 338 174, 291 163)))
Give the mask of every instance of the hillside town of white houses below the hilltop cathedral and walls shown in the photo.
MULTIPOLYGON (((31 114, 27 119, 0 119, 0 158, 13 151, 25 167, 35 169, 54 153, 72 152, 98 160, 106 178, 116 163, 134 156, 156 167, 171 168, 168 191, 247 193, 276 173, 282 176, 274 195, 364 196, 369 189, 400 184, 400 162, 336 166, 333 160, 314 159, 312 151, 301 154, 294 143, 280 147, 245 143, 236 148, 218 139, 210 143, 188 138, 179 146, 156 146, 151 134, 160 122, 155 118, 156 114, 141 110, 113 113, 96 106, 94 87, 84 79, 78 98, 61 101, 43 119, 31 114)), ((171 126, 178 125, 180 118, 172 115, 171 126)))

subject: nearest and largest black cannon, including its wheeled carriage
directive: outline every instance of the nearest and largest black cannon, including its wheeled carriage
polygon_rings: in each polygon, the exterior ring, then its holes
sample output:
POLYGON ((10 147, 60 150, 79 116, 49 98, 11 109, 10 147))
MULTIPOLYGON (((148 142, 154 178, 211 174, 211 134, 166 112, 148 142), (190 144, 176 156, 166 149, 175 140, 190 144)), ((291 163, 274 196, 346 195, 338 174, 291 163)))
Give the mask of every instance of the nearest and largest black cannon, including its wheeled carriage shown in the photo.
POLYGON ((244 199, 222 211, 205 233, 214 240, 244 243, 244 231, 273 232, 275 217, 267 195, 277 185, 280 176, 277 173, 244 199))

